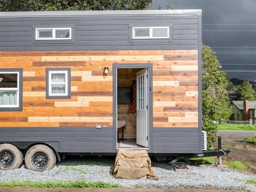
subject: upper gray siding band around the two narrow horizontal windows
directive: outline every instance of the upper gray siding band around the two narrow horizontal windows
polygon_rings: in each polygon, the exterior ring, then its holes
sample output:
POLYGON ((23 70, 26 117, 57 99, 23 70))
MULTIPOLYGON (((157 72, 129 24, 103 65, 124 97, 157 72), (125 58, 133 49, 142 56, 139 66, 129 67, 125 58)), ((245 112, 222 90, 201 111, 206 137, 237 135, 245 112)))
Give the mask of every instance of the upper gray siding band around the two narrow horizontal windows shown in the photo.
MULTIPOLYGON (((197 15, 156 16, 74 16, 0 18, 0 51, 31 50, 139 50, 197 49, 197 15), (172 25, 172 40, 133 39, 129 24, 172 25), (33 26, 70 25, 75 33, 70 40, 34 39, 33 26)), ((170 38, 171 39, 171 38, 170 38)))

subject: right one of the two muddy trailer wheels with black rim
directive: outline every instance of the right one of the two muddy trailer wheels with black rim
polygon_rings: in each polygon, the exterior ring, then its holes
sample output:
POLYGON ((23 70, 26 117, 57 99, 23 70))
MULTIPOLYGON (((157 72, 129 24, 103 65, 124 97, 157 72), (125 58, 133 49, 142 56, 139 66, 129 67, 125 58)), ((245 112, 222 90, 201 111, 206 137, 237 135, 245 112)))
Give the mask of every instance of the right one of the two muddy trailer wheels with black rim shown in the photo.
POLYGON ((48 171, 53 169, 56 163, 56 156, 53 150, 42 144, 31 147, 25 156, 27 169, 33 171, 48 171))

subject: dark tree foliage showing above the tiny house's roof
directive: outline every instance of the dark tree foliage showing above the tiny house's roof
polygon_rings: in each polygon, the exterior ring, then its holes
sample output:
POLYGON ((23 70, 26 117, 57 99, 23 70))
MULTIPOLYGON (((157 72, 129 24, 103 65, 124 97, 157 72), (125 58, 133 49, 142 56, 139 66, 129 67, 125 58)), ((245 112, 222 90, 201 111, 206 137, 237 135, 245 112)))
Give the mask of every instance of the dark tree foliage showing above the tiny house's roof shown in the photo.
POLYGON ((152 0, 0 0, 0 11, 144 10, 152 0))

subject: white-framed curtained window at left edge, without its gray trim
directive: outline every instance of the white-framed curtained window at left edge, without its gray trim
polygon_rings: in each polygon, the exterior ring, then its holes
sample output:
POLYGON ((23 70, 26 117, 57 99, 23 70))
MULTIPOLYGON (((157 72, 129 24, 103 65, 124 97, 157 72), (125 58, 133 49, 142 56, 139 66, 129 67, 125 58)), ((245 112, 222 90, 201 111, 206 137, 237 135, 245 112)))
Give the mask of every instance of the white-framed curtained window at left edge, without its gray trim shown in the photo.
POLYGON ((19 72, 0 72, 0 108, 19 108, 19 72))

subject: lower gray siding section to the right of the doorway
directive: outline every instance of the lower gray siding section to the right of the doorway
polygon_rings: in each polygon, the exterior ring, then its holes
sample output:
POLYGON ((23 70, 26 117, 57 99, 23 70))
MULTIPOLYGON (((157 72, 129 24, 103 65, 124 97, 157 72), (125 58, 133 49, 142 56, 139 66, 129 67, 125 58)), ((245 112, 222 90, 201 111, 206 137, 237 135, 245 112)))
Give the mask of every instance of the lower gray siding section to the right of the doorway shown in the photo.
POLYGON ((153 127, 150 153, 200 153, 198 128, 153 127))

